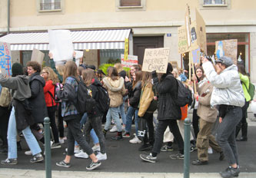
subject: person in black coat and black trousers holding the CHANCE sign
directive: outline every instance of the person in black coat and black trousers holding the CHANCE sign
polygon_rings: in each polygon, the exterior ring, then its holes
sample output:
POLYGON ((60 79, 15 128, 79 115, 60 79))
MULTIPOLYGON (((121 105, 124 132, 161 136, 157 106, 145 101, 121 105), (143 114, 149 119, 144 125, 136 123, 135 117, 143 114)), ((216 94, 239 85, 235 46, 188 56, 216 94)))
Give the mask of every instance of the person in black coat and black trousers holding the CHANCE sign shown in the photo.
POLYGON ((163 143, 164 133, 167 127, 170 127, 175 139, 178 142, 179 153, 171 155, 171 159, 184 158, 184 142, 178 129, 177 120, 181 119, 181 108, 175 104, 175 97, 178 94, 178 81, 171 74, 172 66, 168 63, 166 74, 159 74, 157 77, 156 71, 152 71, 155 90, 158 93, 158 126, 155 132, 155 143, 150 154, 141 154, 142 160, 155 163, 157 154, 160 153, 163 143))

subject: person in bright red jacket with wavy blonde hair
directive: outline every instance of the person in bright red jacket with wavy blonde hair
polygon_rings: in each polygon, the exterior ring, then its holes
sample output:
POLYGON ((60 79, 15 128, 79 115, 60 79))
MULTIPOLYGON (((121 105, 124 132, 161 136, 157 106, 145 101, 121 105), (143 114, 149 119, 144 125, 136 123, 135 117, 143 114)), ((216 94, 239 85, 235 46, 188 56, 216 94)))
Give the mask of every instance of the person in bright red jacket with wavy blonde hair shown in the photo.
POLYGON ((58 140, 58 128, 55 123, 55 112, 57 104, 55 103, 55 84, 58 82, 58 76, 52 68, 45 67, 41 72, 41 76, 45 79, 45 103, 48 111, 48 117, 51 121, 52 133, 55 143, 52 144, 52 149, 62 147, 58 140))

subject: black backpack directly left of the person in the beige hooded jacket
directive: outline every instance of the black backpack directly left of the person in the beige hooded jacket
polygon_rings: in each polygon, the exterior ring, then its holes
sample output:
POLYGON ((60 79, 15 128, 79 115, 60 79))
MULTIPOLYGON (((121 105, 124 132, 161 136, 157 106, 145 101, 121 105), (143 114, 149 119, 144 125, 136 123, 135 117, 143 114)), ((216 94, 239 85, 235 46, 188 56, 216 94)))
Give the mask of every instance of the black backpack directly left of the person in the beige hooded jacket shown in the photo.
POLYGON ((108 95, 108 91, 105 89, 105 87, 102 87, 101 85, 98 85, 98 100, 99 109, 101 110, 101 112, 107 112, 109 109, 110 98, 108 95))

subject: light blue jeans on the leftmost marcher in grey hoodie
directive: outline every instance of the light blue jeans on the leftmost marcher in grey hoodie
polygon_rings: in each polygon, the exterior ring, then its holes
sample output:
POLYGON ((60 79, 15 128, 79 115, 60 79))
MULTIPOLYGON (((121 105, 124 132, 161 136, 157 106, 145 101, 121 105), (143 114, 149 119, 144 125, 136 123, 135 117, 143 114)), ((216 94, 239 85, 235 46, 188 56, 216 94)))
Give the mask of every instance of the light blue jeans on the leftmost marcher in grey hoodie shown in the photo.
MULTIPOLYGON (((25 137, 26 142, 28 143, 29 149, 32 151, 32 155, 41 153, 41 148, 39 147, 38 141, 35 139, 30 127, 26 127, 22 130, 22 133, 25 137)), ((12 107, 12 112, 9 118, 8 123, 8 159, 17 158, 17 129, 16 129, 16 120, 15 120, 15 109, 12 107)))

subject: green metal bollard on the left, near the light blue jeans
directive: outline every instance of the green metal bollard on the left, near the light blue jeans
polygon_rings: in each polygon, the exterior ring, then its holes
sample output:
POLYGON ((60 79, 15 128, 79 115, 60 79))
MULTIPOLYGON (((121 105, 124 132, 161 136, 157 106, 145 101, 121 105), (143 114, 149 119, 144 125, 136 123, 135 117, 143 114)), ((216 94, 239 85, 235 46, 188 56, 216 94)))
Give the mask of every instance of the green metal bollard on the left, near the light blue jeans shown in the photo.
POLYGON ((45 177, 52 178, 50 119, 45 117, 45 177))

